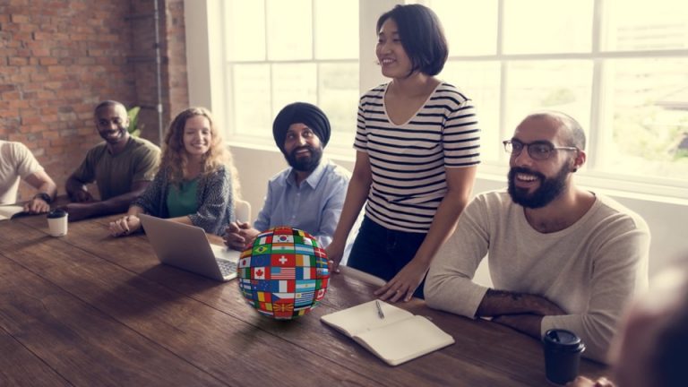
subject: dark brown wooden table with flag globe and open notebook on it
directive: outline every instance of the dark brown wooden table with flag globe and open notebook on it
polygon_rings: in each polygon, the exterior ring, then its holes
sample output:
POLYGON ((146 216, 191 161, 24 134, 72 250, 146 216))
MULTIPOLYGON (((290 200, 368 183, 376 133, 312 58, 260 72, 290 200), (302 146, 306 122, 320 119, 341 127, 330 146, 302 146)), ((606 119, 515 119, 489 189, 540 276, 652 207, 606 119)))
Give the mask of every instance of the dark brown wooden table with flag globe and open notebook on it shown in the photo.
POLYGON ((456 344, 387 366, 319 320, 373 299, 367 284, 335 275, 313 312, 273 321, 236 280, 160 265, 146 236, 108 236, 112 218, 63 237, 48 236, 45 215, 0 222, 0 385, 548 385, 537 340, 421 300, 401 306, 456 344))

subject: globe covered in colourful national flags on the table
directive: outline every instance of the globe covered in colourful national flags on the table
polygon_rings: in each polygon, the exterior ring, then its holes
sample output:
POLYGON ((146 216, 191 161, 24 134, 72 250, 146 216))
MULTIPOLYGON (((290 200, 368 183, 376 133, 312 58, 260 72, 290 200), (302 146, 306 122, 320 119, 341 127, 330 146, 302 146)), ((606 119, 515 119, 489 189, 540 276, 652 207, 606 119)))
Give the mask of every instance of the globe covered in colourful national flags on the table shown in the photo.
POLYGON ((239 290, 262 315, 290 320, 325 297, 330 271, 317 240, 298 228, 271 228, 239 258, 239 290))

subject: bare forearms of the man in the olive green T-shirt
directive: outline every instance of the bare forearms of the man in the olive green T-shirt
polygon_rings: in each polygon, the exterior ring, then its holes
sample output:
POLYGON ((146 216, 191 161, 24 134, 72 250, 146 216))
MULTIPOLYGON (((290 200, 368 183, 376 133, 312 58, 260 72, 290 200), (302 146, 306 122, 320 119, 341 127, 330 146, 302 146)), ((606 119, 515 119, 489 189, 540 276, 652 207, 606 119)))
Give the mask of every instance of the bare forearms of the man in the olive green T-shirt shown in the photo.
POLYGON ((134 182, 132 190, 128 193, 112 197, 107 199, 107 201, 95 202, 90 193, 84 189, 84 185, 70 177, 67 180, 67 193, 70 194, 70 198, 73 198, 75 202, 67 204, 63 209, 69 212, 70 221, 126 212, 133 200, 141 195, 148 185, 150 185, 150 181, 134 182), (77 189, 70 192, 70 184, 72 184, 71 188, 76 187, 77 189))

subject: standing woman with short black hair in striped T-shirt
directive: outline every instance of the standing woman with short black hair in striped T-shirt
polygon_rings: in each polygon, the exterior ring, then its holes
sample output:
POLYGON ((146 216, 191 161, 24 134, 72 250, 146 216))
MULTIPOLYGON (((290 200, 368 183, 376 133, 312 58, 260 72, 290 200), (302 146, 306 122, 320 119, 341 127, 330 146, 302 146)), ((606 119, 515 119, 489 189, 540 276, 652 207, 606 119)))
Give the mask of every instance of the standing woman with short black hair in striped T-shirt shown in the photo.
POLYGON ((347 264, 387 281, 374 293, 380 299, 408 301, 423 297, 430 262, 469 202, 480 130, 472 101, 434 77, 448 48, 432 10, 397 5, 376 31, 377 59, 391 82, 360 99, 356 165, 327 253, 336 271, 367 200, 347 264))

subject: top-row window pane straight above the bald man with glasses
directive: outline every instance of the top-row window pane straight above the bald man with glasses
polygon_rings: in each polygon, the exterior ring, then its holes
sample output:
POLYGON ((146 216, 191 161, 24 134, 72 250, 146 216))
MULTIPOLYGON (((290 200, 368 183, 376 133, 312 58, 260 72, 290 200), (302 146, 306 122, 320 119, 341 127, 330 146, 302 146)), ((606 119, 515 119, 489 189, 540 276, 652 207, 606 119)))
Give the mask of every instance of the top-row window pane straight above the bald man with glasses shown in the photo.
POLYGON ((505 0, 504 53, 589 52, 592 0, 505 0))

